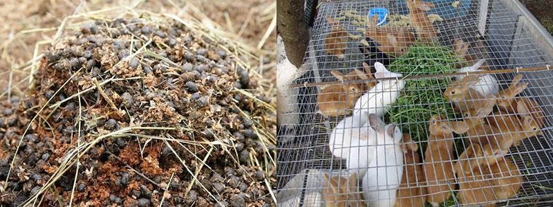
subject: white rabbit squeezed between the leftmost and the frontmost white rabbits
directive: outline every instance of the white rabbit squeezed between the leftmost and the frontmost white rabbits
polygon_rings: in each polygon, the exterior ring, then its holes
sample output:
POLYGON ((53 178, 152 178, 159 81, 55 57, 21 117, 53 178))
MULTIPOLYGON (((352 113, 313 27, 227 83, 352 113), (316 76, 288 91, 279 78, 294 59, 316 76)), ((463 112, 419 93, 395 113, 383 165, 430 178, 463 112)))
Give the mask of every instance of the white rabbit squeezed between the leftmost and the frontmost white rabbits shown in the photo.
MULTIPOLYGON (((362 114, 366 111, 362 112, 362 114)), ((367 116, 368 117, 368 116, 367 116)), ((346 166, 350 173, 357 172, 359 178, 365 175, 368 164, 373 161, 376 150, 376 132, 369 121, 362 126, 359 137, 352 137, 346 166)))

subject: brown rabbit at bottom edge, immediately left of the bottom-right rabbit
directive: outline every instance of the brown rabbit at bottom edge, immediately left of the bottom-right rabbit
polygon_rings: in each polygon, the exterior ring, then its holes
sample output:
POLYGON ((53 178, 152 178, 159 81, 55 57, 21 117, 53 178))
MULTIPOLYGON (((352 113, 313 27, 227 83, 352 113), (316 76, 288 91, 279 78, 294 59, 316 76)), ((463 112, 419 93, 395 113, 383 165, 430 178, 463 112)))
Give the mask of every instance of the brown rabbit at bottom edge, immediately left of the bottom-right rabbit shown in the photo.
POLYGON ((471 144, 465 152, 459 155, 455 164, 455 172, 459 182, 459 199, 461 204, 475 205, 486 203, 483 206, 496 206, 491 203, 496 200, 492 188, 493 184, 482 173, 482 146, 471 144))

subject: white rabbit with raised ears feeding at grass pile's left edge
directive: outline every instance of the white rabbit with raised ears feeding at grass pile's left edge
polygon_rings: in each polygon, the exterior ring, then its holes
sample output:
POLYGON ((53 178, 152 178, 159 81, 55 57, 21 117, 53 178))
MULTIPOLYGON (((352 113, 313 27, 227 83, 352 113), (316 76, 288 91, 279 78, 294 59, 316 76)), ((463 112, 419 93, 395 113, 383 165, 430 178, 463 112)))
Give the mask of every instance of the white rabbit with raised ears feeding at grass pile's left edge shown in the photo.
POLYGON ((379 62, 375 63, 375 69, 375 78, 377 79, 384 77, 397 77, 398 79, 379 81, 375 87, 357 99, 353 107, 354 114, 367 111, 369 114, 382 117, 384 109, 395 102, 397 96, 400 95, 400 91, 405 87, 405 81, 399 79, 403 76, 400 73, 386 70, 386 67, 379 62))

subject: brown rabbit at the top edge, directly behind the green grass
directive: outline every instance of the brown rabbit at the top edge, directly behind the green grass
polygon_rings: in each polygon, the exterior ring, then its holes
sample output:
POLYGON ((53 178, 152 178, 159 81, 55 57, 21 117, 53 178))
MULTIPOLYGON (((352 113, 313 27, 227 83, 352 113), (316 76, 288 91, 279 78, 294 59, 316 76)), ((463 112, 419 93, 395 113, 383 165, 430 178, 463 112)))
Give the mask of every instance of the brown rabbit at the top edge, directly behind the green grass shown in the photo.
POLYGON ((425 12, 434 8, 434 3, 422 0, 406 0, 409 8, 409 19, 411 25, 417 30, 419 39, 424 43, 431 43, 438 37, 432 21, 425 12))

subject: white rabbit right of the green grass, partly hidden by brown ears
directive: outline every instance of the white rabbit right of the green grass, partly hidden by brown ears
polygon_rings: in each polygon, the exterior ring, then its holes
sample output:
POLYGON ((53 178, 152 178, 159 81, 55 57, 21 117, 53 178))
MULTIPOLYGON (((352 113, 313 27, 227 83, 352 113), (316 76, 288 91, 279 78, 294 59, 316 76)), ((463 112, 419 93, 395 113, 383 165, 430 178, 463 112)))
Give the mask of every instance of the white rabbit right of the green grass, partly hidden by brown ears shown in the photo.
MULTIPOLYGON (((457 72, 485 71, 485 70, 482 70, 482 69, 478 69, 485 62, 486 62, 485 59, 480 59, 478 62, 474 63, 473 66, 468 66, 468 67, 465 67, 465 68, 459 68, 457 70, 457 72)), ((457 75, 455 77, 455 79, 460 80, 464 77, 465 77, 465 75, 457 75)), ((480 93, 480 95, 486 97, 489 94, 497 95, 497 93, 499 92, 499 83, 498 83, 496 77, 494 77, 494 75, 484 75, 484 76, 480 77, 480 81, 478 81, 478 83, 472 85, 471 88, 473 88, 478 93, 480 93)))

